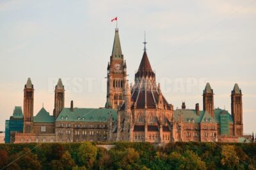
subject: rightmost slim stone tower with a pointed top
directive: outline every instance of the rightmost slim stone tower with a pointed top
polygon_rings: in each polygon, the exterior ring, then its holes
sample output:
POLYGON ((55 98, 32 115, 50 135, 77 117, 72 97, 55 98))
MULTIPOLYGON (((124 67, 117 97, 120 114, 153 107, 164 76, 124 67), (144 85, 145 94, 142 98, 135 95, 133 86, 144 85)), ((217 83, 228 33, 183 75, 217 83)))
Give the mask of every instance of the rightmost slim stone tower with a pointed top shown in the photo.
POLYGON ((234 120, 234 136, 243 136, 243 102, 242 91, 237 83, 231 92, 231 114, 234 120))

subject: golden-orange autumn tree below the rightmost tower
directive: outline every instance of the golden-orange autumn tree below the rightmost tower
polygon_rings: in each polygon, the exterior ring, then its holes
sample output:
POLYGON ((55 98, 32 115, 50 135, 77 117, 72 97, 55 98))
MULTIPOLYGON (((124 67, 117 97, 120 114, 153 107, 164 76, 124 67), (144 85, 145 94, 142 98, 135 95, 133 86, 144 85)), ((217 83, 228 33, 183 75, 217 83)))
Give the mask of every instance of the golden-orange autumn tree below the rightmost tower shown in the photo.
POLYGON ((234 169, 239 164, 239 158, 234 145, 223 145, 221 148, 221 164, 228 169, 234 169))

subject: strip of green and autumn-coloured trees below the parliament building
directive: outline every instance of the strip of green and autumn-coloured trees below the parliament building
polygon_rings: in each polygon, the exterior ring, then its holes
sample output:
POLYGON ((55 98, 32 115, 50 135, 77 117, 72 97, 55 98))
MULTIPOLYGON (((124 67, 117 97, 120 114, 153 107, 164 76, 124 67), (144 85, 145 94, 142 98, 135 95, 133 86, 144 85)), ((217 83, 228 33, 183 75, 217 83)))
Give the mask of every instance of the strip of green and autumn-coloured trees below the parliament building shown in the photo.
POLYGON ((256 143, 0 145, 0 169, 255 169, 256 143))

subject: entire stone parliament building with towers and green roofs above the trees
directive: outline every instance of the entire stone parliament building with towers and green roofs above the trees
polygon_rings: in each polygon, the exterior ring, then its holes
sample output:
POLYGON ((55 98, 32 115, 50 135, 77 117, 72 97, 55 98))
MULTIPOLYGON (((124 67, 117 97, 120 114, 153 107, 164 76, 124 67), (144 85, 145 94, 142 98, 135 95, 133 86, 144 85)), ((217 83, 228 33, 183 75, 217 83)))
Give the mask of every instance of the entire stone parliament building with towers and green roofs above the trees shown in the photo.
POLYGON ((13 116, 6 120, 6 143, 145 141, 163 144, 245 140, 243 94, 237 83, 231 91, 231 113, 214 108, 214 93, 209 83, 203 90, 202 110, 198 103, 193 110, 186 109, 185 103, 173 110, 156 81, 146 48, 134 84, 128 83, 118 29, 115 30, 107 78, 104 108, 76 108, 73 101, 65 107, 65 87, 59 79, 52 115, 43 107, 35 116, 34 85, 28 78, 24 86, 23 111, 16 106, 13 116))

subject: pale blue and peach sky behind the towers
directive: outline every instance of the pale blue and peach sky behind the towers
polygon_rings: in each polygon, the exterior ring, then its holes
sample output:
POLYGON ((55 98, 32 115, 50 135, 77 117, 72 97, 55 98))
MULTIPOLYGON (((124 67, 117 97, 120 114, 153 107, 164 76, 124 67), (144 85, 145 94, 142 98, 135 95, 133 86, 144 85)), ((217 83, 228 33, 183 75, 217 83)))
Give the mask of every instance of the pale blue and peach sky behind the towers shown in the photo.
POLYGON ((209 82, 214 107, 230 109, 235 83, 243 92, 244 133, 256 132, 256 1, 0 1, 0 131, 23 108, 28 79, 34 115, 52 115, 54 86, 65 85, 65 107, 106 102, 107 64, 116 23, 130 82, 147 54, 164 97, 174 108, 203 108, 209 82))

